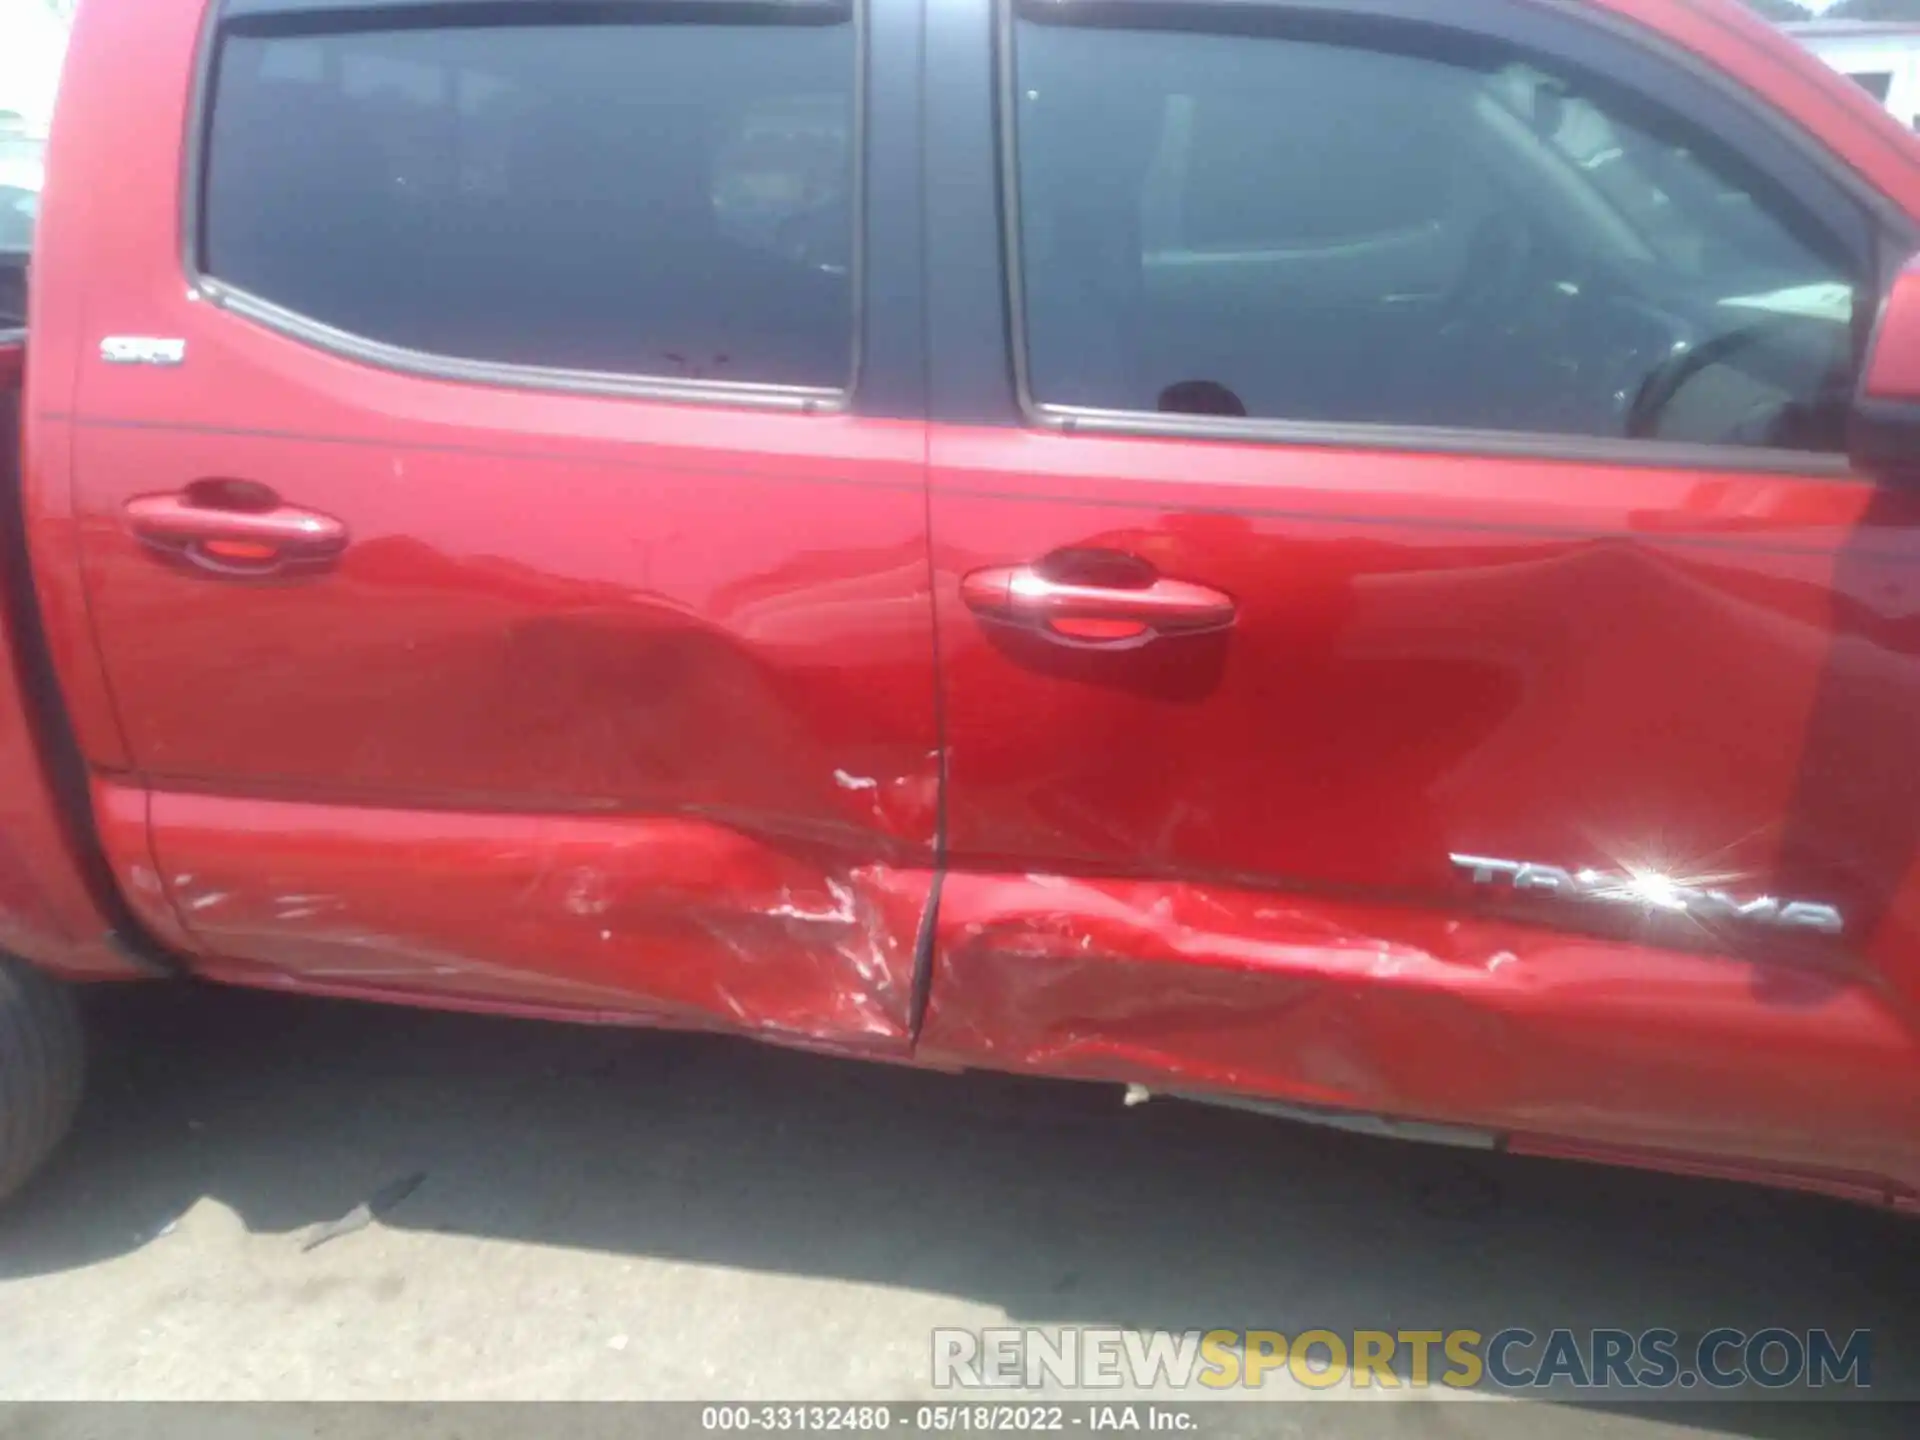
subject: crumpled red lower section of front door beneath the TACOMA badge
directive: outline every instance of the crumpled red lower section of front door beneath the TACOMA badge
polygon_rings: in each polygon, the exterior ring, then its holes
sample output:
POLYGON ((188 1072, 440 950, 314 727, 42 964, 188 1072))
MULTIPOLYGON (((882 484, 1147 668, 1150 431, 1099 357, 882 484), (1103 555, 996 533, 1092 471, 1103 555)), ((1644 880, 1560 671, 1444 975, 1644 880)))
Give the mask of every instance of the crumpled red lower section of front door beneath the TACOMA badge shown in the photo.
POLYGON ((1920 1190, 1920 1041, 1847 962, 1252 887, 952 874, 922 1054, 1920 1190))

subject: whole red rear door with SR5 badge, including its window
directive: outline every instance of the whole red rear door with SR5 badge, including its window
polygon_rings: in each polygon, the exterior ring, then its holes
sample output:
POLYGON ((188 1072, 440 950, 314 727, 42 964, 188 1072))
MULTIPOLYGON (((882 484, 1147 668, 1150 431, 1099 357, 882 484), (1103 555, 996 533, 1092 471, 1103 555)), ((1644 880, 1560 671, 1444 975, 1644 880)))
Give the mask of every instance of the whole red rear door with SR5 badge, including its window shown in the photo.
POLYGON ((40 563, 123 879, 228 977, 899 1048, 937 733, 864 21, 447 13, 227 0, 198 102, 190 6, 79 21, 56 163, 123 159, 48 215, 98 353, 40 563))

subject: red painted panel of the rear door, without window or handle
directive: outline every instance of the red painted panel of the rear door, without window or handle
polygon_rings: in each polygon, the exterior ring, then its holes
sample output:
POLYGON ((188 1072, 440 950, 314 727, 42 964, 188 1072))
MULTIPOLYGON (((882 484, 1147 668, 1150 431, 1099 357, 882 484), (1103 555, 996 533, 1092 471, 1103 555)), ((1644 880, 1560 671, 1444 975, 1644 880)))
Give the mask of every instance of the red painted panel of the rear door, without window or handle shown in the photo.
POLYGON ((180 177, 127 157, 184 129, 196 12, 79 27, 50 169, 121 180, 113 225, 50 192, 36 290, 36 326, 86 328, 60 271, 90 267, 88 315, 190 355, 81 349, 35 532, 83 747, 152 793, 182 943, 904 1046, 939 799, 924 426, 445 384, 190 300, 180 177), (136 534, 211 480, 351 543, 253 578, 136 534))

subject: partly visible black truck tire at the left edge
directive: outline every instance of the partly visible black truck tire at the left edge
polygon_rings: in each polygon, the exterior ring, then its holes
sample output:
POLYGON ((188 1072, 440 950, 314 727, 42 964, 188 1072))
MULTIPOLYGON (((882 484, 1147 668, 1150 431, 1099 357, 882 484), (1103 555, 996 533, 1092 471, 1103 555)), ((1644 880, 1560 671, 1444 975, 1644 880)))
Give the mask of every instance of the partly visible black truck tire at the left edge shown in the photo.
POLYGON ((0 956, 0 1200, 27 1183, 73 1125, 84 1079, 73 993, 0 956))

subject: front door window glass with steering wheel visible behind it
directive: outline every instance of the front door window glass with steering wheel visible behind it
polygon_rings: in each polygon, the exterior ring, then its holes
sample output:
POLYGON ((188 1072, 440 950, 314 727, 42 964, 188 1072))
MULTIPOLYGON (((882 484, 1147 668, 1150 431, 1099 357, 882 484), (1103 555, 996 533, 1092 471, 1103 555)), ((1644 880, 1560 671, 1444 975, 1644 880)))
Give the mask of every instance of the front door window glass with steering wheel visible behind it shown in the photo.
POLYGON ((1056 21, 1014 79, 1041 403, 1839 447, 1849 261, 1636 96, 1480 40, 1056 21))

